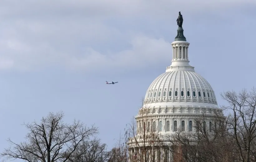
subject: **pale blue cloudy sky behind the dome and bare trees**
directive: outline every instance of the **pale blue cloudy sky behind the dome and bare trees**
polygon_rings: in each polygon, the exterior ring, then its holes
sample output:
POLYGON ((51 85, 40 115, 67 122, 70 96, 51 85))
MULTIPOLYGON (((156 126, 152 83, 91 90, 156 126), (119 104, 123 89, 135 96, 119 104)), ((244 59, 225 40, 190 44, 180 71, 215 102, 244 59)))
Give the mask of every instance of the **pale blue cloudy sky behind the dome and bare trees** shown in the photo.
POLYGON ((0 151, 58 111, 114 147, 171 64, 179 11, 190 65, 219 106, 221 92, 256 86, 254 0, 1 0, 0 151))

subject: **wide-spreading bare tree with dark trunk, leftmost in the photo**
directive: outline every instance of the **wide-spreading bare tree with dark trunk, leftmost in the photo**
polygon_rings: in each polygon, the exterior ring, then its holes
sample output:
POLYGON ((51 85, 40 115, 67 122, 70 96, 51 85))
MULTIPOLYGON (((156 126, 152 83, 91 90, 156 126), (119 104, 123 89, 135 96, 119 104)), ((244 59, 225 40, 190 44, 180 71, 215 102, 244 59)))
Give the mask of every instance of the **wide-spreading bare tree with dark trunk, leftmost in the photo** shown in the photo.
POLYGON ((66 124, 62 121, 63 116, 63 112, 49 113, 47 117, 42 117, 40 123, 24 124, 28 129, 26 141, 15 143, 8 139, 11 146, 1 155, 28 162, 67 161, 78 146, 97 134, 98 130, 94 125, 87 127, 76 120, 66 124))

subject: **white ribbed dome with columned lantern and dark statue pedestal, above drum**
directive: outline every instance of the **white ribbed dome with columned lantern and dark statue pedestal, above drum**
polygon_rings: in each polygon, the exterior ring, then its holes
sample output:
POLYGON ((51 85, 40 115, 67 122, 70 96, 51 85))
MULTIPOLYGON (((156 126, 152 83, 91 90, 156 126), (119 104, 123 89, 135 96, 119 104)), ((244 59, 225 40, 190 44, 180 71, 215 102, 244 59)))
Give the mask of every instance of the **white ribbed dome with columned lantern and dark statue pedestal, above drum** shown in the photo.
POLYGON ((221 111, 210 84, 189 65, 189 45, 183 35, 183 28, 179 27, 175 41, 171 43, 171 65, 150 84, 143 109, 159 108, 159 112, 166 113, 175 113, 175 110, 177 113, 221 111))

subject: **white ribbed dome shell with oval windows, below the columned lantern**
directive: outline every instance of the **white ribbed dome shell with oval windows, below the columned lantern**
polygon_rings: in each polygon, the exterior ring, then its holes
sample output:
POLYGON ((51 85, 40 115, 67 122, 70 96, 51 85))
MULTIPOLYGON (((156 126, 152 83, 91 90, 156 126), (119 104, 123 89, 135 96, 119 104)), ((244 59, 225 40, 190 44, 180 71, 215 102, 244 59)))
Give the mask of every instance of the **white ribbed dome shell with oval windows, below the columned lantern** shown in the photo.
POLYGON ((210 84, 194 70, 167 71, 158 76, 146 92, 144 105, 218 107, 210 84))

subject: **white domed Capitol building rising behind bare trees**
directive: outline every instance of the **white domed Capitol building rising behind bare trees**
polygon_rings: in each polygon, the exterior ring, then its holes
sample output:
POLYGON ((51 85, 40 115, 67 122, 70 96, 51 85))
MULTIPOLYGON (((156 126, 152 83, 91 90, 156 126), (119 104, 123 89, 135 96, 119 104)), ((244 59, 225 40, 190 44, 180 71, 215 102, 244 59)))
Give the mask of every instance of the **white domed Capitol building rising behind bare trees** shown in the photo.
MULTIPOLYGON (((128 142, 132 156, 130 161, 136 158, 137 151, 141 151, 143 128, 146 129, 145 133, 155 132, 160 136, 168 136, 179 129, 194 132, 194 119, 204 115, 204 125, 211 130, 216 113, 223 115, 210 84, 189 65, 189 45, 183 35, 181 22, 175 41, 171 43, 171 65, 150 84, 144 104, 135 117, 137 143, 134 138, 128 142)), ((149 161, 172 161, 170 151, 161 146, 155 149, 154 160, 151 158, 149 161)))

